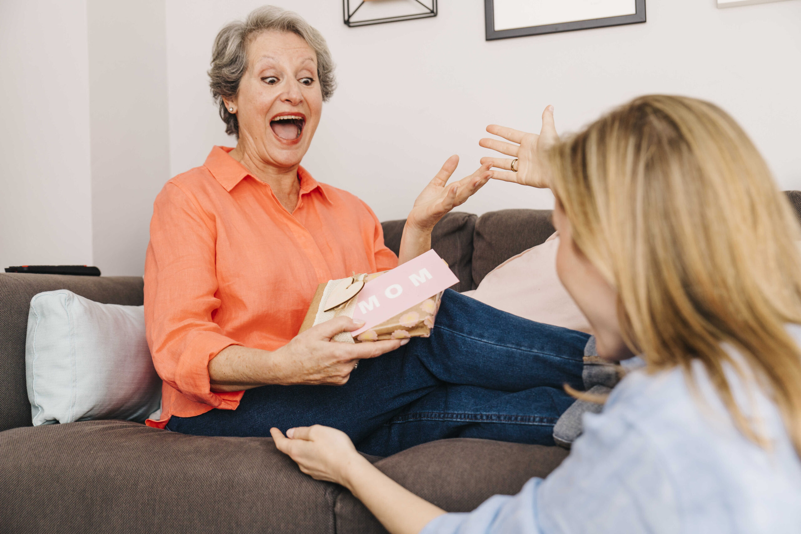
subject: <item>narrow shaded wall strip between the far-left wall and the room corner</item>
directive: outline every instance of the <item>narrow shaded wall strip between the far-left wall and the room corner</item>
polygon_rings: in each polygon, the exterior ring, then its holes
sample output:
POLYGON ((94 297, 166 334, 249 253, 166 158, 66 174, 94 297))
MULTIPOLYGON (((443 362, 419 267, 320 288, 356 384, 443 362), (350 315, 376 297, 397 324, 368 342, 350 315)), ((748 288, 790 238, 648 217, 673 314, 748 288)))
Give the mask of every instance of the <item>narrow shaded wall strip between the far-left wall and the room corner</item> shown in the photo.
POLYGON ((92 242, 103 275, 143 275, 170 178, 162 0, 88 0, 92 242))

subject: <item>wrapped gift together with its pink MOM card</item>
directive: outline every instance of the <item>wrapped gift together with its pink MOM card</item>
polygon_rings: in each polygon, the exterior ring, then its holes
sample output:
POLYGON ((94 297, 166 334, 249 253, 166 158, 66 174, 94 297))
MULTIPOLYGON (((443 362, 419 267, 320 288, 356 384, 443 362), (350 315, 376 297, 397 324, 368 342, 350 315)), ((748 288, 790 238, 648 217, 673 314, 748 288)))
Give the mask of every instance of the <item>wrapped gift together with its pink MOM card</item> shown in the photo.
POLYGON ((300 331, 345 315, 364 326, 337 334, 336 341, 428 337, 443 292, 458 281, 433 250, 392 271, 330 280, 317 287, 300 331))

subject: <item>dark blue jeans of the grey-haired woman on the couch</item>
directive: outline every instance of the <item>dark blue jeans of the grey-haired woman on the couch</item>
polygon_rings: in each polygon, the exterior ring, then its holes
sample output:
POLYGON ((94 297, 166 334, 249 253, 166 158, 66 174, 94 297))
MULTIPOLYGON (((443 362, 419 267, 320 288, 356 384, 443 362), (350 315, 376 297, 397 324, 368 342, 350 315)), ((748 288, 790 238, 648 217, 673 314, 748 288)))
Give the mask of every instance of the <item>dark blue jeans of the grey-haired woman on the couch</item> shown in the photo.
POLYGON ((453 437, 551 445, 574 402, 563 385, 582 389, 589 337, 448 290, 429 338, 361 360, 344 386, 256 387, 235 410, 172 416, 167 428, 269 436, 271 427, 324 424, 376 456, 453 437))

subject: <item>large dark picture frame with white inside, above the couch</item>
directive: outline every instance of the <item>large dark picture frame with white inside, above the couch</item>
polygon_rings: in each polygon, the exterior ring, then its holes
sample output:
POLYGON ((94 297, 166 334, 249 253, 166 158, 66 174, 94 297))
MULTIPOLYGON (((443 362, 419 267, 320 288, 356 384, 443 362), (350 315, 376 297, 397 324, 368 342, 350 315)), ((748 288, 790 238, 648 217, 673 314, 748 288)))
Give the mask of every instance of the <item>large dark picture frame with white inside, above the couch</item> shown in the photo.
POLYGON ((484 0, 484 7, 487 41, 646 22, 646 0, 484 0))

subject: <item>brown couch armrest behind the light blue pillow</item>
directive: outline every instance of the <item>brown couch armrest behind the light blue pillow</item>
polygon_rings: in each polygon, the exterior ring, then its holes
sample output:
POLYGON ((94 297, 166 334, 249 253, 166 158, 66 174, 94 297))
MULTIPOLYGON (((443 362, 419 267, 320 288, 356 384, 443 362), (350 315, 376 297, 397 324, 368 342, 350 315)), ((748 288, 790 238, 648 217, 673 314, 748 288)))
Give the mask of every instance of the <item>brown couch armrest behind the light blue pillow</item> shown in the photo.
POLYGON ((0 273, 0 432, 30 426, 25 386, 25 338, 30 299, 42 291, 69 289, 107 304, 141 306, 143 280, 136 276, 67 276, 0 273))

